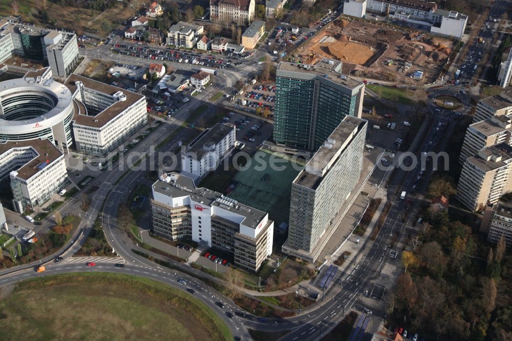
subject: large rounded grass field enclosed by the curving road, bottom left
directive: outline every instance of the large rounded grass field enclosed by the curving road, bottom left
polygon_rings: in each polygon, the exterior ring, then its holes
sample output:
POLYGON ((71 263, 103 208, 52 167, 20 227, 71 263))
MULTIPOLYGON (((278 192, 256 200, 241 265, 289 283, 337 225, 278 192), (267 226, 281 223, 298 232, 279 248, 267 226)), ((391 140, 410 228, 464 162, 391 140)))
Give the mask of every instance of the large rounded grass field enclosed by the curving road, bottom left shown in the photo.
POLYGON ((3 339, 232 340, 216 313, 191 295, 122 274, 23 282, 0 311, 3 339))

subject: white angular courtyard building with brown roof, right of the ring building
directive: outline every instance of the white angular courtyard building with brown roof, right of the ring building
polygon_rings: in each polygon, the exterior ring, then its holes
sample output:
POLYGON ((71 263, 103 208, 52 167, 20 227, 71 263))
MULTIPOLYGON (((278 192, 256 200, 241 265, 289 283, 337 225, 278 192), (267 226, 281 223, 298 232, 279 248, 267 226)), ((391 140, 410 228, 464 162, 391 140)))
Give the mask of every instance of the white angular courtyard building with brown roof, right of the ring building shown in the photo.
POLYGON ((73 136, 78 152, 106 155, 147 123, 146 97, 71 74, 73 136))

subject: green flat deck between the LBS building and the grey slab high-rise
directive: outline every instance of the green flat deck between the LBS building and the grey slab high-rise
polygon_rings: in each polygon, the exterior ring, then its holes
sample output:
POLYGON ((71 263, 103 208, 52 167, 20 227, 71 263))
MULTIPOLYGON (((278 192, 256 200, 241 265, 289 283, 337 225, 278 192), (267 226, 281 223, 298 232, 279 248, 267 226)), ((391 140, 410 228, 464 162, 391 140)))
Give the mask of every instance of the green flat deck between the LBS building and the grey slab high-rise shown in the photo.
POLYGON ((291 183, 304 164, 281 153, 260 150, 232 179, 238 184, 229 197, 268 212, 277 227, 288 222, 291 183))

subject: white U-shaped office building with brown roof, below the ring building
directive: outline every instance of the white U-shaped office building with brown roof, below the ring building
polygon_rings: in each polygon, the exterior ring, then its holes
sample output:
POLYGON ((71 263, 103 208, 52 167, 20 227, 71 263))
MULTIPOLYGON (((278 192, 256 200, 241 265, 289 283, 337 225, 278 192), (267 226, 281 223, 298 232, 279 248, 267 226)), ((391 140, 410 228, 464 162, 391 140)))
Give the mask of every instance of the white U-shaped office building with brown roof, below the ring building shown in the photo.
POLYGON ((0 179, 10 180, 16 212, 33 209, 67 184, 64 154, 48 139, 0 143, 0 179))

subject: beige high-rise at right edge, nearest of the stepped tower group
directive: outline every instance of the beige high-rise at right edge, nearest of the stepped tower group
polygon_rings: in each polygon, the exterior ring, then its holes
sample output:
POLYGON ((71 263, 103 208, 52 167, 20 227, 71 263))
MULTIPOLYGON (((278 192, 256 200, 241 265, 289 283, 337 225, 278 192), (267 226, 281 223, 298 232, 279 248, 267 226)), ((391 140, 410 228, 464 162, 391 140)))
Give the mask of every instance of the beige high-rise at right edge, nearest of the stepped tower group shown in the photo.
POLYGON ((495 204, 512 191, 512 147, 506 143, 485 147, 468 157, 457 186, 457 199, 471 210, 495 204))

